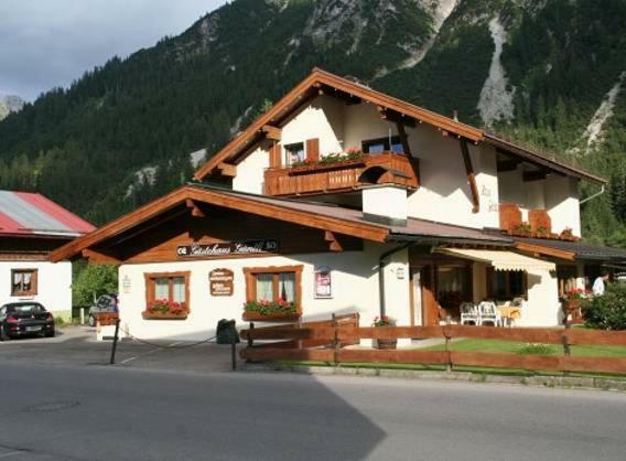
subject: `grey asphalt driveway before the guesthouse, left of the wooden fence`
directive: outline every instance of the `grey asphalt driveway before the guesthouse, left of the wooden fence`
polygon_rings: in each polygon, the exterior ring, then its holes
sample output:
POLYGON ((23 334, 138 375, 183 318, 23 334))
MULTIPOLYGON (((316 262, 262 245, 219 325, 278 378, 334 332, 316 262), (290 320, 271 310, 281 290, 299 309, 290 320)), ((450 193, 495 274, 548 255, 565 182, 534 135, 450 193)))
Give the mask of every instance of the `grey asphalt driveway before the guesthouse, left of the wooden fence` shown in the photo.
MULTIPOLYGON (((29 364, 108 365, 111 341, 96 341, 96 330, 66 326, 55 337, 26 337, 0 342, 0 360, 29 364)), ((238 354, 237 354, 238 357, 238 354)), ((238 358, 239 361, 239 358, 238 358)), ((144 344, 132 340, 118 343, 116 366, 190 372, 231 369, 229 345, 154 341, 144 344)))

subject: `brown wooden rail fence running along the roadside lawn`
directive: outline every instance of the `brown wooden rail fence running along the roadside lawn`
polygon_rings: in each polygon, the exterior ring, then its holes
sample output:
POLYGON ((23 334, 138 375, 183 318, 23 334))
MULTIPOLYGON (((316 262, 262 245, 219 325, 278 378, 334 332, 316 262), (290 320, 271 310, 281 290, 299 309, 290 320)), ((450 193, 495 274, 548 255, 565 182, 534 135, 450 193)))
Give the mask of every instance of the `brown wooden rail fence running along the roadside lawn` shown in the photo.
POLYGON ((515 368, 550 372, 590 372, 626 374, 626 357, 581 357, 571 355, 572 345, 626 345, 626 332, 582 329, 493 328, 473 325, 359 328, 358 324, 321 322, 241 331, 248 346, 240 351, 249 362, 315 361, 342 363, 401 363, 515 368), (360 340, 399 340, 441 337, 445 351, 415 349, 377 350, 346 347, 360 340), (455 339, 504 340, 524 343, 560 344, 563 355, 526 355, 452 351, 455 339), (255 341, 263 341, 255 344, 255 341), (268 342, 269 341, 269 342, 268 342))

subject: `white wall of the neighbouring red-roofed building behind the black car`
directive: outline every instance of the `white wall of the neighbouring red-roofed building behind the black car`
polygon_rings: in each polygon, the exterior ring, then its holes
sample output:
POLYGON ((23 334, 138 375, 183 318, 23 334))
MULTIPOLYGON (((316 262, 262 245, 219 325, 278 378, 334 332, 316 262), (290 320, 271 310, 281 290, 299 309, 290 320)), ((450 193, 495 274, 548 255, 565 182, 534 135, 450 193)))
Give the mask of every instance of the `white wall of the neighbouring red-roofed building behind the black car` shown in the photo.
POLYGON ((36 301, 57 317, 68 319, 72 312, 72 262, 0 261, 0 302, 36 301), (11 294, 11 271, 37 271, 37 292, 33 296, 11 294))

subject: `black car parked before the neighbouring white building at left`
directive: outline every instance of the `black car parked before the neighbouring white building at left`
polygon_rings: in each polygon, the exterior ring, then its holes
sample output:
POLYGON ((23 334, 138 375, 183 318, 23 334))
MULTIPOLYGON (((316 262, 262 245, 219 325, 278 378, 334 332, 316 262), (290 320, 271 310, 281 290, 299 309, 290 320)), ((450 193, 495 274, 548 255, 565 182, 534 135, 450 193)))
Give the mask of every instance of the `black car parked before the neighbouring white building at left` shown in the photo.
POLYGON ((11 302, 0 308, 0 341, 42 334, 54 336, 54 317, 39 302, 11 302))

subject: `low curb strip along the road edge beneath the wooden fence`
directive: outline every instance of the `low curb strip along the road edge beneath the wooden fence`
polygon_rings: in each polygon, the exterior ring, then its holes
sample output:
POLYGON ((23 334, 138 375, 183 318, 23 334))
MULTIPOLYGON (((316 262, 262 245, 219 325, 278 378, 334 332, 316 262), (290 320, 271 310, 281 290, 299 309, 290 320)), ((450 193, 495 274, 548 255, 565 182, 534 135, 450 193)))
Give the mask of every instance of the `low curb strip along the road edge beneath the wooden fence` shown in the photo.
POLYGON ((342 366, 305 366, 305 365, 280 365, 280 364, 241 364, 244 372, 279 372, 298 373, 304 375, 334 375, 334 376, 363 376, 384 377, 397 379, 424 379, 424 380, 461 380, 470 383, 511 384, 532 387, 551 387, 561 389, 600 389, 626 392, 626 380, 580 377, 580 376, 514 376, 490 375, 473 372, 436 372, 419 369, 391 369, 391 368, 359 368, 342 366))

